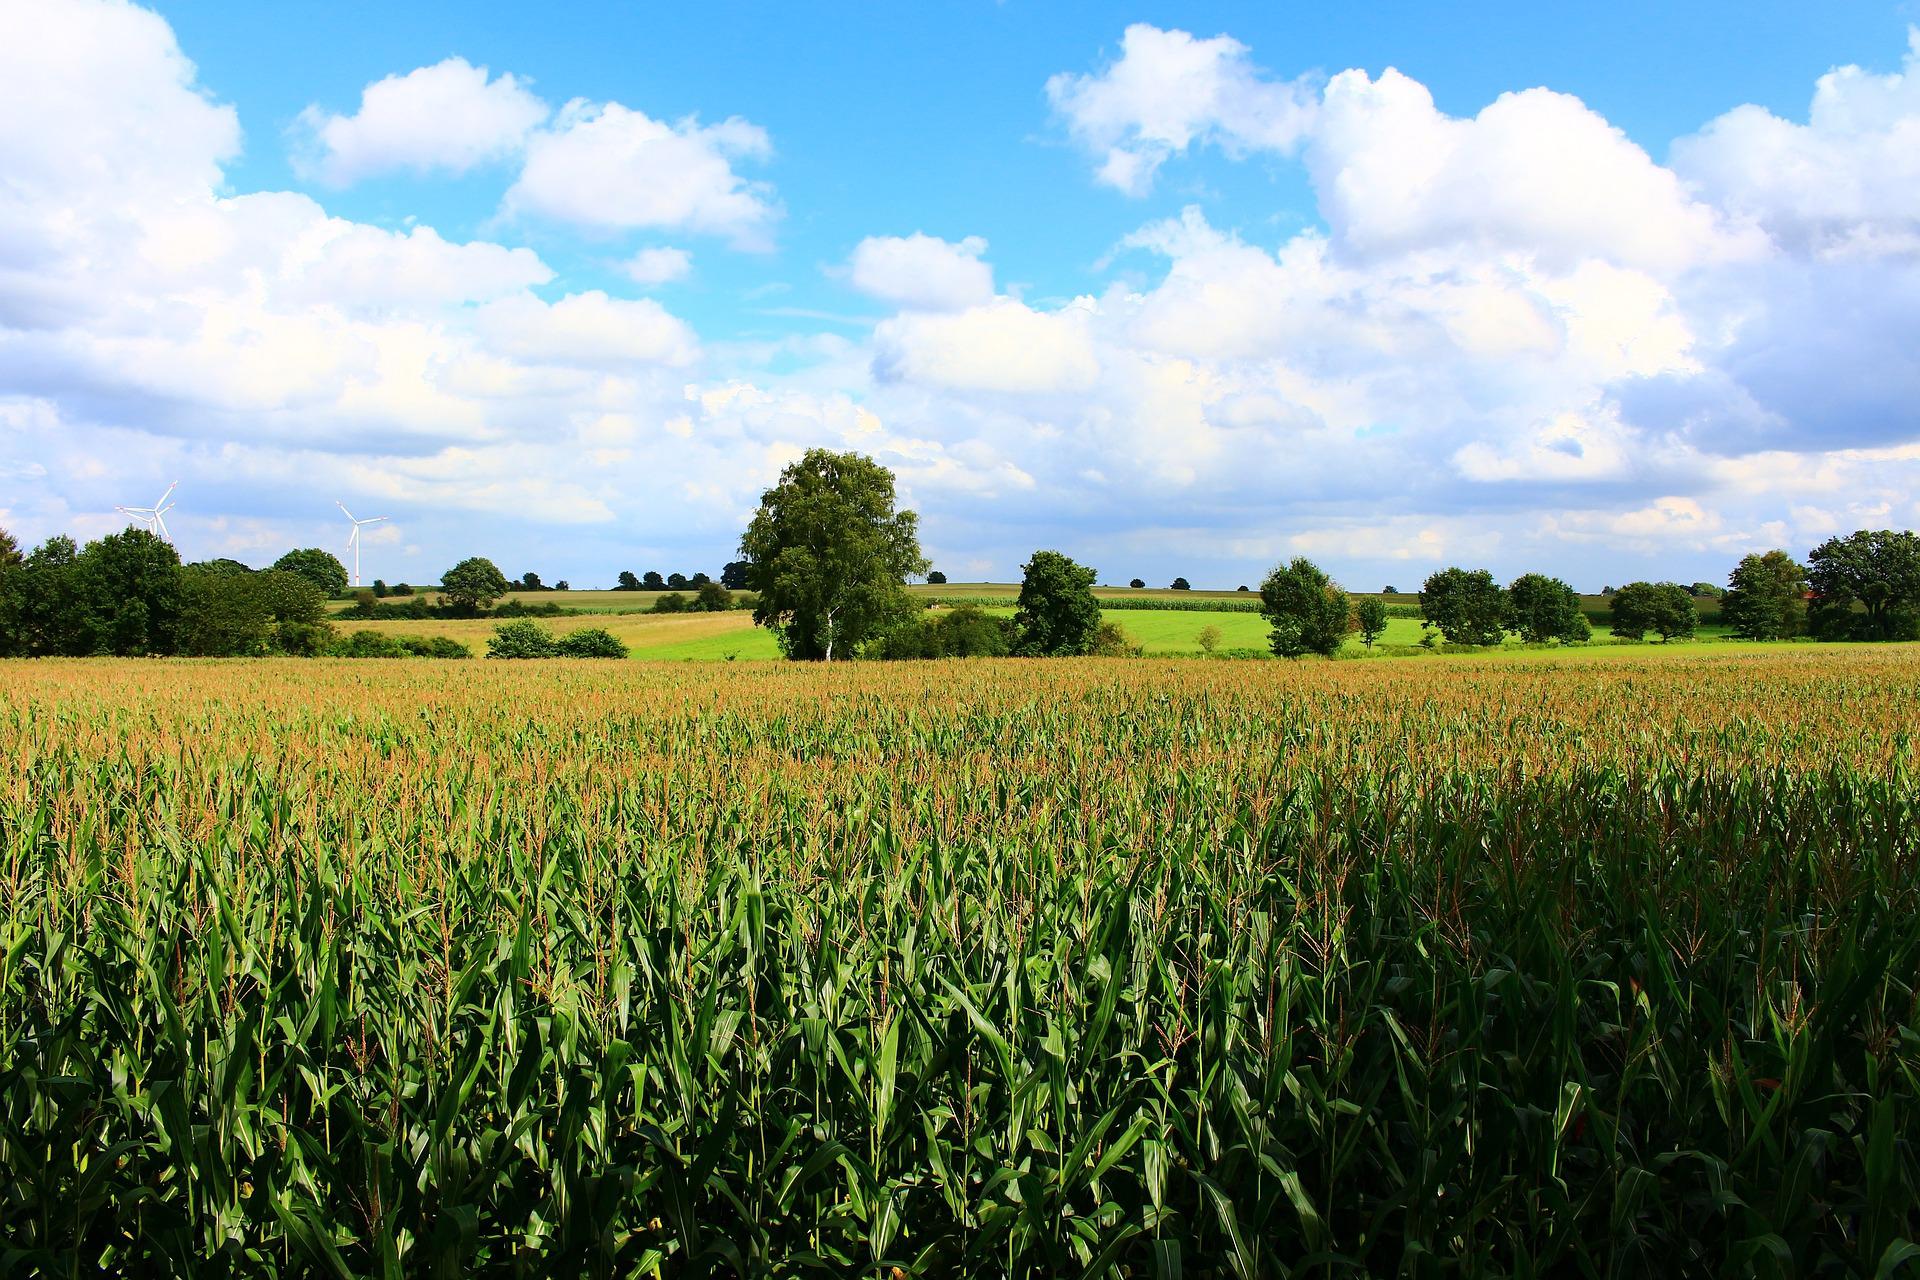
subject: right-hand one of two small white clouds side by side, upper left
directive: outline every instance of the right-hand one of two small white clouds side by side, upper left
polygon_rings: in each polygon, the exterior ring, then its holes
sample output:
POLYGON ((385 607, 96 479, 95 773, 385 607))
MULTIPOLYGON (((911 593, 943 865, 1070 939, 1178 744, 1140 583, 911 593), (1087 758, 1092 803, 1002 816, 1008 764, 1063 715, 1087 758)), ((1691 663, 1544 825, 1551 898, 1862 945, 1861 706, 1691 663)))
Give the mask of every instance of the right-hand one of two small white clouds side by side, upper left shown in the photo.
POLYGON ((618 102, 568 102, 534 134, 507 209, 601 232, 697 230, 764 248, 778 207, 733 161, 772 155, 743 119, 666 123, 618 102))

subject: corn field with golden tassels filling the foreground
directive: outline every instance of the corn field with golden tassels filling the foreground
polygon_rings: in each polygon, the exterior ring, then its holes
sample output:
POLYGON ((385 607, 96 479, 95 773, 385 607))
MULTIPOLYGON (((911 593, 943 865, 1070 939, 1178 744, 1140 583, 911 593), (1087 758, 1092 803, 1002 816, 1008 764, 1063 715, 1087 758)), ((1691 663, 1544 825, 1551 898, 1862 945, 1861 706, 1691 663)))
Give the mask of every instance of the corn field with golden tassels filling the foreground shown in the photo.
POLYGON ((0 666, 0 1272, 1914 1274, 1920 660, 0 666))

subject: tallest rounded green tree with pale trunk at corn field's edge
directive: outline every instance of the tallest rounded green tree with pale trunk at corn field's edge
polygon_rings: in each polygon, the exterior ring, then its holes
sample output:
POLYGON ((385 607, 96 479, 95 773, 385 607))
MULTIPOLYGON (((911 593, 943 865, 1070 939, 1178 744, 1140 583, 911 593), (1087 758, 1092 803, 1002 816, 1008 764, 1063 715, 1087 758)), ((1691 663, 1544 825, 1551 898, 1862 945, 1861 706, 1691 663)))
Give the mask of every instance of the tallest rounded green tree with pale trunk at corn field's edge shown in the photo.
POLYGON ((739 539, 753 620, 789 658, 831 662, 912 608, 927 570, 920 516, 895 510, 893 472, 858 453, 808 449, 760 495, 739 539))

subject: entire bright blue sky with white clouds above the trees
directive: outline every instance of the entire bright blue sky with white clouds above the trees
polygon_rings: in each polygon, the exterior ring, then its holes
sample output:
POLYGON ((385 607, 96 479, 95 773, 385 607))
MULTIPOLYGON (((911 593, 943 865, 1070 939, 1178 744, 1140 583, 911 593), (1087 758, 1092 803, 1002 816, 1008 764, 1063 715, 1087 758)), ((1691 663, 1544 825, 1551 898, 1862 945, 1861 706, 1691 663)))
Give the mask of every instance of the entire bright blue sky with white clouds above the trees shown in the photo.
POLYGON ((1912 21, 19 0, 0 524, 597 585, 818 443, 954 578, 1720 578, 1920 514, 1912 21))

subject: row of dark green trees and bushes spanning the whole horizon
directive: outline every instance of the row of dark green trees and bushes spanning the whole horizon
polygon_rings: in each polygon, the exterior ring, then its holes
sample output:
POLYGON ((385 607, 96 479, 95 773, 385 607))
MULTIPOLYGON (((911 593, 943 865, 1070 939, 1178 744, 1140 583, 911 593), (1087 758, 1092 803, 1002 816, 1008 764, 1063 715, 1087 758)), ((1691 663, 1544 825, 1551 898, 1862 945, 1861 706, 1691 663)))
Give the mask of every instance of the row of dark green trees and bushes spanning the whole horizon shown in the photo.
MULTIPOLYGON (((733 591, 753 591, 755 622, 774 631, 785 656, 799 660, 1135 652, 1125 633, 1100 616, 1094 570, 1060 551, 1033 553, 1012 618, 975 604, 935 616, 906 593, 914 576, 945 583, 920 553, 918 522, 916 512, 897 509, 885 466, 858 453, 812 449, 760 495, 739 541, 741 558, 728 562, 718 581, 707 574, 624 570, 620 587, 662 591, 655 612, 735 608, 745 603, 733 591), (695 595, 689 599, 682 589, 695 595)), ((1135 578, 1131 585, 1144 583, 1135 578)), ((1185 578, 1173 581, 1173 589, 1187 587, 1185 578)), ((384 656, 390 637, 361 631, 344 643, 336 635, 324 603, 346 589, 346 568, 317 547, 252 570, 238 560, 182 564, 171 543, 138 528, 84 547, 56 535, 31 555, 21 555, 0 530, 0 656, 384 656)), ((545 589, 538 574, 515 581, 492 560, 468 557, 442 576, 438 604, 397 583, 357 591, 355 604, 340 618, 566 612, 551 603, 501 603, 509 591, 545 589)), ((1649 633, 1686 639, 1699 626, 1695 597, 1716 591, 1711 583, 1626 583, 1607 593, 1607 624, 1622 639, 1649 633)), ((1920 535, 1910 530, 1836 535, 1814 547, 1805 564, 1780 549, 1753 553, 1734 566, 1718 593, 1720 620, 1741 639, 1920 639, 1920 535)), ((1260 608, 1271 624, 1271 651, 1298 658, 1331 656, 1356 633, 1371 649, 1392 606, 1379 597, 1348 595, 1300 557, 1267 574, 1260 608)), ((1578 593, 1549 574, 1521 574, 1501 585, 1484 568, 1438 570, 1421 585, 1419 618, 1427 647, 1440 641, 1484 647, 1507 635, 1572 645, 1592 635, 1578 593)), ((516 633, 509 647, 515 645, 528 652, 511 656, 545 656, 530 635, 516 633)), ((434 656, 465 656, 465 647, 459 649, 461 654, 434 656)))

